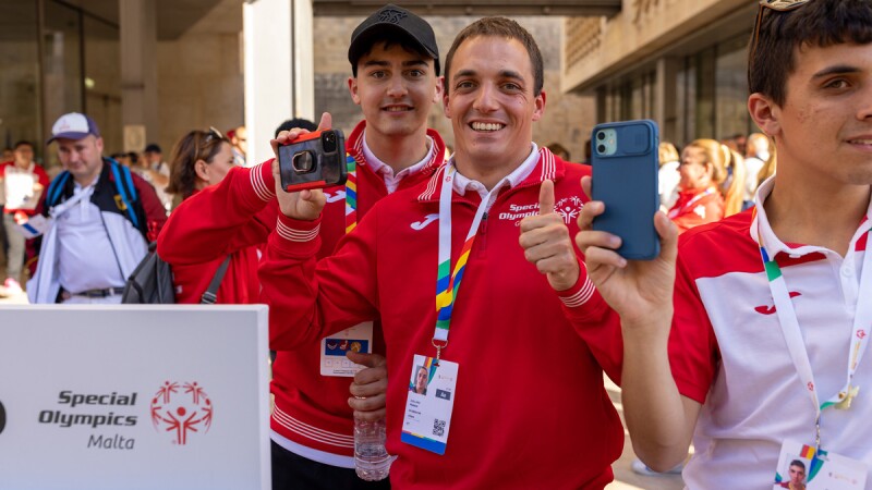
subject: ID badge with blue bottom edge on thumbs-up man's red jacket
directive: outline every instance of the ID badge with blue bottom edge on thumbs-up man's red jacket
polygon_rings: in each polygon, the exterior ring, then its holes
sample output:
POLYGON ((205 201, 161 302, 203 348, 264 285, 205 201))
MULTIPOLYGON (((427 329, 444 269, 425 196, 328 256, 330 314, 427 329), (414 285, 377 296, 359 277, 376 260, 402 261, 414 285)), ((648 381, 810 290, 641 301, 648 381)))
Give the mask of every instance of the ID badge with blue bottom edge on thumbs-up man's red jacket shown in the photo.
POLYGON ((445 359, 437 363, 433 357, 415 355, 402 418, 402 442, 445 454, 455 409, 457 370, 457 363, 445 359))

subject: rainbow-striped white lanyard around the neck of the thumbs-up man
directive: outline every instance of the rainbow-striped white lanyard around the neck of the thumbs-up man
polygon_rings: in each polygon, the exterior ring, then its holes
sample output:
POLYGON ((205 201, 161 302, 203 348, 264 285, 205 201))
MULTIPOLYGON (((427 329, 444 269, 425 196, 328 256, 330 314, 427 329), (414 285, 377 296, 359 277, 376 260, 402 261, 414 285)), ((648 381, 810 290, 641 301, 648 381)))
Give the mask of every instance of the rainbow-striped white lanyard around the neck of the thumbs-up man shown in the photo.
MULTIPOLYGON (((443 177, 443 188, 439 194, 439 267, 436 274, 436 331, 433 334, 433 345, 436 347, 437 360, 441 350, 448 345, 448 329, 451 326, 451 314, 453 313, 457 292, 460 289, 460 281, 463 280, 463 271, 470 258, 472 244, 475 243, 475 235, 479 234, 482 218, 493 198, 492 194, 488 194, 479 205, 470 231, 467 233, 467 240, 460 249, 460 257, 455 264, 455 271, 451 273, 451 192, 457 169, 453 162, 447 163, 444 169, 445 176, 443 177)), ((496 195, 496 193, 493 194, 496 195)))

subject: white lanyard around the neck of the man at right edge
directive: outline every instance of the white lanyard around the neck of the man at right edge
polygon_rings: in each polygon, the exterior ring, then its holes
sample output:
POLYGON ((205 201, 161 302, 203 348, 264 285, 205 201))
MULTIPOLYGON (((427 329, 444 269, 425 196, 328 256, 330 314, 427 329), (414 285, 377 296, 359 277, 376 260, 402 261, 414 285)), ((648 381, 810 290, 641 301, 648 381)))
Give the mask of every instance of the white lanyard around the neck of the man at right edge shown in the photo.
MULTIPOLYGON (((808 389, 809 395, 814 403, 816 411, 815 426, 816 426, 816 441, 821 445, 821 413, 835 406, 840 409, 848 409, 851 405, 851 400, 857 396, 860 388, 855 387, 853 376, 857 372, 857 366, 865 353, 867 344, 869 344, 869 334, 867 330, 872 323, 872 301, 869 301, 872 294, 872 250, 867 245, 867 250, 863 254, 863 268, 860 277, 860 290, 858 291, 857 311, 853 317, 853 329, 851 331, 851 344, 848 351, 848 369, 847 380, 841 390, 835 395, 820 402, 818 397, 818 390, 814 385, 814 376, 812 375, 811 363, 809 362, 809 354, 806 350, 806 343, 802 340, 802 332, 799 329, 799 320, 797 319, 794 303, 790 299, 790 293, 787 290, 787 283, 784 280, 782 268, 775 261, 774 256, 770 256, 763 243, 763 233, 761 232, 760 221, 758 221, 756 207, 752 211, 752 220, 756 222, 758 231, 758 245, 760 246, 760 257, 763 259, 763 267, 766 271, 766 279, 768 279, 770 291, 772 298, 775 303, 775 313, 778 316, 778 322, 782 324, 782 332, 784 333, 785 341, 787 341, 787 350, 794 360, 794 366, 797 369, 799 379, 808 389), (865 301, 863 298, 867 298, 865 301)), ((869 231, 865 232, 867 236, 869 231)))

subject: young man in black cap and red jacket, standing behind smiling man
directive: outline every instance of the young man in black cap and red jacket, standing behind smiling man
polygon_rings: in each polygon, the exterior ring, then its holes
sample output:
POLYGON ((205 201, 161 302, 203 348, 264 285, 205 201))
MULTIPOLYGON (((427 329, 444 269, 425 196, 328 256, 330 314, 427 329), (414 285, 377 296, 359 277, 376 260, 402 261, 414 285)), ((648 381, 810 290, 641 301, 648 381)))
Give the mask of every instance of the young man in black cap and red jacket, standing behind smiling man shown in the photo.
MULTIPOLYGON (((320 226, 319 257, 331 255, 377 200, 426 181, 444 162, 445 145, 426 127, 441 95, 438 47, 429 24, 405 9, 386 5, 354 29, 349 61, 349 90, 364 119, 347 138, 349 184, 325 189, 329 204, 320 226)), ((329 126, 326 115, 320 127, 329 126)), ((160 257, 173 266, 192 264, 265 243, 278 211, 271 164, 232 169, 221 184, 185 200, 158 241, 160 257)), ((364 417, 366 412, 372 412, 370 417, 384 416, 384 358, 350 354, 371 369, 358 372, 361 384, 354 384, 352 393, 360 399, 349 400, 353 368, 340 363, 343 357, 326 355, 331 346, 341 351, 341 340, 349 336, 367 339, 375 352, 384 353, 379 330, 377 322, 375 328, 356 326, 351 333, 331 338, 338 342, 313 339, 293 352, 280 343, 271 345, 278 351, 271 384, 275 489, 388 486, 364 482, 354 473, 349 406, 364 417)))

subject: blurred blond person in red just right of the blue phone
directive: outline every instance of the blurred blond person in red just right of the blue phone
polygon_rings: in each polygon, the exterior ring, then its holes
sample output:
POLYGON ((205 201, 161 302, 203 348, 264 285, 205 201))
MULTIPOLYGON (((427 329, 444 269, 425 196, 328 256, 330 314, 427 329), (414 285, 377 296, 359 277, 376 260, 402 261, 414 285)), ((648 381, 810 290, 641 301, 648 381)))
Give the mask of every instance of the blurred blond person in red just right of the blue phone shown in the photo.
POLYGON ((724 218, 718 186, 727 176, 726 155, 729 149, 714 139, 694 139, 682 151, 678 199, 668 212, 679 233, 724 218))

